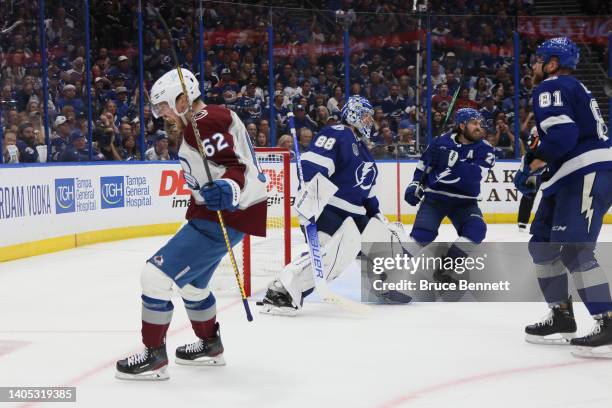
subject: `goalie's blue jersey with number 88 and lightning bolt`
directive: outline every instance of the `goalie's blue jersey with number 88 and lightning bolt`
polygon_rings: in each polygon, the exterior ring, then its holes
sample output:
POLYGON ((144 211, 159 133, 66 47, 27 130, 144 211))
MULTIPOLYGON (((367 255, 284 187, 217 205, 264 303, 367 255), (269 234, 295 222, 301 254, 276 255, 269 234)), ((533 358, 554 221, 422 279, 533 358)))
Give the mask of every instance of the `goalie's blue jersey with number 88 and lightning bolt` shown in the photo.
POLYGON ((338 187, 327 205, 369 217, 379 212, 374 192, 378 168, 366 144, 349 127, 324 127, 301 157, 304 181, 321 173, 338 187))

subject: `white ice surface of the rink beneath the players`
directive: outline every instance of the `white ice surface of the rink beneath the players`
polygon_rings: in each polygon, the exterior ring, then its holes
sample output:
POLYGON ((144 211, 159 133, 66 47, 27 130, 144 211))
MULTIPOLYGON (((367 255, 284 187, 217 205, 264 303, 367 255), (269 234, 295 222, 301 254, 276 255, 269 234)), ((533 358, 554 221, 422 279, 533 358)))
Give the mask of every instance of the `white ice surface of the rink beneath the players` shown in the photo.
MULTIPOLYGON (((444 225, 440 239, 454 238, 444 225)), ((612 403, 612 361, 576 359, 567 346, 524 342, 524 326, 547 312, 543 303, 378 305, 361 317, 313 297, 298 317, 255 313, 248 323, 237 294, 218 296, 227 366, 171 361, 169 381, 116 380, 115 361, 141 348, 141 267, 167 239, 118 241, 0 264, 0 386, 75 386, 76 405, 84 407, 612 403)), ((527 239, 514 225, 489 226, 489 241, 527 239)), ((612 241, 610 226, 601 240, 612 241)), ((354 268, 334 287, 342 292, 358 280, 354 268)), ((254 298, 261 298, 266 281, 254 281, 254 298)), ((170 356, 195 340, 182 301, 174 304, 170 356)), ((254 301, 251 307, 257 312, 254 301)), ((590 331, 584 306, 575 309, 579 333, 590 331)))

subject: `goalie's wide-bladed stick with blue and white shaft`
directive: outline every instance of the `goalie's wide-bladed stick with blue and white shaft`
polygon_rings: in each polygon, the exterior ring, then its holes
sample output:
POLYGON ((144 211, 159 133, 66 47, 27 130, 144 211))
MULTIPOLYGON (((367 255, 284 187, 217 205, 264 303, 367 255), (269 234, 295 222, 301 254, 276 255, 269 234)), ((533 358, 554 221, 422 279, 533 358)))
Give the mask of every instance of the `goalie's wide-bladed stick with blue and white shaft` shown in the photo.
MULTIPOLYGON (((298 182, 299 186, 304 186, 304 173, 302 172, 302 158, 300 155, 299 142, 297 133, 295 132, 295 121, 293 119, 293 112, 287 114, 289 118, 289 129, 291 136, 293 136, 293 145, 295 146, 295 163, 297 166, 298 182)), ((321 254, 321 243, 319 242, 319 234, 317 226, 314 223, 308 223, 306 225, 306 242, 308 244, 308 253, 310 255, 310 264, 312 265, 313 278, 315 282, 315 288, 321 299, 326 303, 332 303, 341 308, 348 310, 353 313, 365 314, 370 311, 368 305, 354 302, 343 296, 333 293, 327 285, 325 279, 325 271, 323 270, 323 259, 321 254)))

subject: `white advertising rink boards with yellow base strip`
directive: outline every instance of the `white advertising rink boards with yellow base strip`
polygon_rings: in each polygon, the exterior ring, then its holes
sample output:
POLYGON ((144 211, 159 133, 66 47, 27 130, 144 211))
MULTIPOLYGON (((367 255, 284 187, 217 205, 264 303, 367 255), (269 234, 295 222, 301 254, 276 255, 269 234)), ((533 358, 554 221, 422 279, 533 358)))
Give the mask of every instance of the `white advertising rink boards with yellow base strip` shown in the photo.
MULTIPOLYGON (((402 222, 412 222, 416 207, 404 202, 403 193, 416 162, 377 166, 382 211, 390 219, 400 214, 402 222)), ((520 194, 512 177, 517 167, 516 161, 501 161, 485 174, 480 206, 487 222, 516 222, 520 194)), ((294 163, 291 173, 295 197, 294 163)), ((0 167, 0 261, 173 233, 183 222, 189 196, 178 162, 0 167)))

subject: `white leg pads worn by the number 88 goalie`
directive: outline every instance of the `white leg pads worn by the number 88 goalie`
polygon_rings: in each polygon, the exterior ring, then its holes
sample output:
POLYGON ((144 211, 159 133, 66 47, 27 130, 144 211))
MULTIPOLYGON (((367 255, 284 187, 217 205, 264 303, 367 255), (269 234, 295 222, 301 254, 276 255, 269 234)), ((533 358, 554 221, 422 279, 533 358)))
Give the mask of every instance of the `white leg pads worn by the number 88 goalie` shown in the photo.
MULTIPOLYGON (((355 260, 361 249, 361 234, 355 221, 348 217, 331 237, 319 232, 323 270, 325 279, 336 279, 355 260)), ((314 288, 314 279, 308 253, 287 265, 279 274, 278 279, 289 292, 296 307, 301 307, 305 292, 314 288)))

